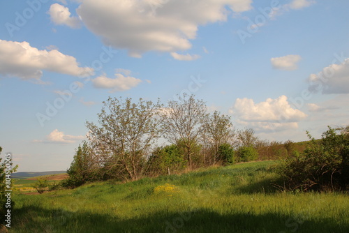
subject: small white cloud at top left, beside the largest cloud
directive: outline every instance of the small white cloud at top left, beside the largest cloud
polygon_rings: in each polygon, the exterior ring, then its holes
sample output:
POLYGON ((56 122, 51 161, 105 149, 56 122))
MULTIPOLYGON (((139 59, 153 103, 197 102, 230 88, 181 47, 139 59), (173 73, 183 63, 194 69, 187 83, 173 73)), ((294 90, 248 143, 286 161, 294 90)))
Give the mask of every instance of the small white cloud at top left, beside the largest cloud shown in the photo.
POLYGON ((51 21, 54 22, 54 24, 67 25, 73 29, 81 27, 79 17, 70 17, 69 8, 59 5, 59 3, 52 4, 48 14, 50 15, 51 21))

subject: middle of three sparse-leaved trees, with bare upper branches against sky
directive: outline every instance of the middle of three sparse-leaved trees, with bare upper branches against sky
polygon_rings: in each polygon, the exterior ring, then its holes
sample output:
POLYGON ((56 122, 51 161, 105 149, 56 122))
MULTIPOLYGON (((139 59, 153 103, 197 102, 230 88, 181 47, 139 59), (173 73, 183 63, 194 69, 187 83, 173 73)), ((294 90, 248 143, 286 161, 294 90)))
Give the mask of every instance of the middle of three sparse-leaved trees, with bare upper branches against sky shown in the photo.
POLYGON ((202 132, 202 123, 207 117, 207 107, 203 100, 194 96, 179 96, 179 100, 170 100, 161 112, 165 137, 171 143, 184 143, 189 167, 193 166, 194 146, 202 132))

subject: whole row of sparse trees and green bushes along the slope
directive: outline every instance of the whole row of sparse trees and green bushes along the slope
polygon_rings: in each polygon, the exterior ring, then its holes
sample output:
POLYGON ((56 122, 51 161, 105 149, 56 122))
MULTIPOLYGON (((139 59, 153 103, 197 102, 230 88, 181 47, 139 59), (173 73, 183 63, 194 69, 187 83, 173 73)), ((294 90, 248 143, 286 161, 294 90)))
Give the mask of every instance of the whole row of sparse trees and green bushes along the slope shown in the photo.
POLYGON ((108 98, 88 141, 77 148, 64 186, 137 180, 211 165, 278 159, 298 151, 293 142, 266 142, 252 129, 236 130, 229 116, 208 113, 203 100, 181 96, 163 105, 140 98, 108 98), (163 143, 163 146, 157 146, 163 143))

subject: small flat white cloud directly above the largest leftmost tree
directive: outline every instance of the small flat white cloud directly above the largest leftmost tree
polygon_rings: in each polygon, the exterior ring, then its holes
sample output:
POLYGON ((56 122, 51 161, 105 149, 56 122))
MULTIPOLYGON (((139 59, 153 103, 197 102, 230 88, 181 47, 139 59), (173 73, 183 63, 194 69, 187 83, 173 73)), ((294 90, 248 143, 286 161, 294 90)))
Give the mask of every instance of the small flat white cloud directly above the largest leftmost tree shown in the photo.
POLYGON ((99 89, 110 89, 110 92, 126 91, 140 84, 142 80, 135 77, 125 77, 122 74, 115 74, 114 78, 101 75, 92 80, 94 87, 99 89))

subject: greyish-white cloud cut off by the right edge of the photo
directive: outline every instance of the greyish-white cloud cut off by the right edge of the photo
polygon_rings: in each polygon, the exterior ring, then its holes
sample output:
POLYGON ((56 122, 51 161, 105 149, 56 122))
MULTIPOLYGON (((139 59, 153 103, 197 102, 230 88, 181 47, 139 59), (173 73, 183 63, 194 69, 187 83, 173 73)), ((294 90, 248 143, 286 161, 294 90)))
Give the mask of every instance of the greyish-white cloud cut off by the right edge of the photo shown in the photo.
POLYGON ((309 89, 324 94, 349 93, 349 58, 341 64, 332 64, 317 75, 309 76, 309 89))

